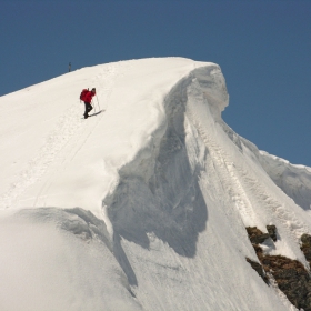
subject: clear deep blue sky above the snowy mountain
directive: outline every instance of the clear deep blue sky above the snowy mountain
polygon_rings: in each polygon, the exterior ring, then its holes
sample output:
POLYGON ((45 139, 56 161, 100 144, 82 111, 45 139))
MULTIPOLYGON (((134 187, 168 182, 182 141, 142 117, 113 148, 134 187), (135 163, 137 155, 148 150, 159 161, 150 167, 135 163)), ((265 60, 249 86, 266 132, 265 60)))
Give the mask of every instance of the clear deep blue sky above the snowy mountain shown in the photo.
POLYGON ((311 167, 311 0, 0 0, 0 96, 60 76, 69 62, 212 61, 230 94, 224 121, 311 167))

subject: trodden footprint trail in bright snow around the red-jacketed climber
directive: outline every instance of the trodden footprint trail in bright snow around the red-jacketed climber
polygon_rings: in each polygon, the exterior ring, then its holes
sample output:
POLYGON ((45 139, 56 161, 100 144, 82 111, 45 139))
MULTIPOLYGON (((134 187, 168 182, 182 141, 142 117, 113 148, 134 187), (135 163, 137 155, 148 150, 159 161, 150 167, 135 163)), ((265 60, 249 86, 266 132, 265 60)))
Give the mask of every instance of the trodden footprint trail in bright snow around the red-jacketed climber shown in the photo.
MULTIPOLYGON (((107 64, 102 68, 101 72, 90 81, 91 86, 99 86, 97 87, 97 90, 99 90, 97 94, 98 98, 93 98, 94 109, 92 113, 99 112, 99 104, 101 106, 102 113, 96 116, 96 118, 84 120, 82 118, 84 106, 82 107, 74 102, 67 109, 57 121, 54 130, 46 139, 39 154, 28 163, 26 170, 21 171, 14 178, 16 181, 11 183, 9 189, 0 197, 0 209, 13 207, 18 198, 30 185, 34 184, 43 177, 57 158, 62 156, 62 162, 70 161, 74 158, 103 117, 107 102, 113 89, 114 79, 126 73, 124 68, 120 71, 120 67, 126 67, 127 70, 130 64, 126 62, 107 64), (99 103, 98 100, 100 100, 99 103), (64 147, 69 148, 69 150, 74 149, 74 154, 70 152, 69 154, 61 154, 64 147)), ((47 187, 48 184, 44 184, 40 192, 47 187)), ((38 193, 38 198, 40 197, 40 192, 38 193)))

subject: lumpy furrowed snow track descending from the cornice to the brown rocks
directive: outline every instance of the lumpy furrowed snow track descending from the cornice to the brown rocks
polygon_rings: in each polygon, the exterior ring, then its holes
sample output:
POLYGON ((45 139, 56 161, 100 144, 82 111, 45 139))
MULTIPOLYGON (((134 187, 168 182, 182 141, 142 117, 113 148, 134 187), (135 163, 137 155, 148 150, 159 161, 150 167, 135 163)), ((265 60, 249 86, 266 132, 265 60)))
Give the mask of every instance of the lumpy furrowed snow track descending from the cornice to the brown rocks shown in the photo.
MULTIPOLYGON (((285 228, 287 235, 291 238, 295 244, 299 244, 300 237, 303 233, 310 233, 310 228, 304 222, 300 221, 293 211, 280 204, 273 198, 272 193, 270 193, 269 189, 258 182, 255 175, 252 175, 253 171, 251 169, 245 170, 243 163, 231 159, 231 156, 212 139, 208 129, 202 126, 200 117, 195 113, 195 109, 189 107, 188 114, 207 146, 212 161, 214 162, 214 168, 220 175, 219 179, 223 184, 223 189, 225 189, 234 202, 244 225, 260 227, 258 220, 261 218, 255 212, 255 210, 260 210, 260 207, 253 207, 253 204, 258 204, 257 202, 259 202, 267 211, 265 214, 271 217, 269 221, 265 220, 267 223, 263 223, 263 225, 265 227, 270 222, 275 224, 279 220, 285 228), (257 200, 254 202, 250 201, 250 193, 255 195, 257 200)), ((291 201, 290 199, 288 200, 291 201)), ((293 202, 289 202, 289 204, 292 203, 293 202)), ((304 262, 304 264, 307 264, 307 262, 304 262)))

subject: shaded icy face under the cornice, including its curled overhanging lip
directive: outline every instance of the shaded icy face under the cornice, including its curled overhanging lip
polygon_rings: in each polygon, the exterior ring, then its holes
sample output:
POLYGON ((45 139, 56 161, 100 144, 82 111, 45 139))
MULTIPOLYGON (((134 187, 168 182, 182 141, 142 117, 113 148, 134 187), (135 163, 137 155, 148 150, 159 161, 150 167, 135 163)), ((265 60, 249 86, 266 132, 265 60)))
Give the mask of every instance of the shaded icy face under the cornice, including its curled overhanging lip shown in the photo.
POLYGON ((119 171, 119 185, 103 205, 108 205, 114 237, 149 249, 148 233, 153 232, 177 253, 193 257, 198 234, 207 221, 207 205, 199 187, 207 149, 200 142, 191 146, 190 141, 187 146, 191 131, 185 120, 188 92, 207 97, 210 106, 205 103, 205 109, 215 119, 228 104, 218 66, 191 71, 164 99, 165 130, 158 128, 148 146, 119 171))

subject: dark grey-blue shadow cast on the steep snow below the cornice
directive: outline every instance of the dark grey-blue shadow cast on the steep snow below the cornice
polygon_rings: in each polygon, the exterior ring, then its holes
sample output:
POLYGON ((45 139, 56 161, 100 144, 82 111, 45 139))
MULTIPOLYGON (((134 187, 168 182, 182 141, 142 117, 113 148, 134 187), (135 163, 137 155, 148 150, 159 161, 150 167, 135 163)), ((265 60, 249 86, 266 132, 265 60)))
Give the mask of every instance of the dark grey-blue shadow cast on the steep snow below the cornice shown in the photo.
POLYGON ((103 201, 113 225, 113 253, 131 285, 138 281, 122 239, 150 249, 149 234, 154 234, 175 253, 193 258, 199 232, 205 229, 208 210, 199 185, 202 168, 190 164, 185 146, 189 83, 183 79, 165 99, 168 124, 157 151, 150 159, 138 156, 123 167, 119 185, 103 201))

